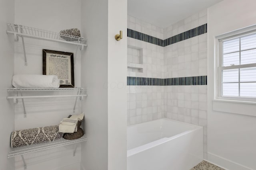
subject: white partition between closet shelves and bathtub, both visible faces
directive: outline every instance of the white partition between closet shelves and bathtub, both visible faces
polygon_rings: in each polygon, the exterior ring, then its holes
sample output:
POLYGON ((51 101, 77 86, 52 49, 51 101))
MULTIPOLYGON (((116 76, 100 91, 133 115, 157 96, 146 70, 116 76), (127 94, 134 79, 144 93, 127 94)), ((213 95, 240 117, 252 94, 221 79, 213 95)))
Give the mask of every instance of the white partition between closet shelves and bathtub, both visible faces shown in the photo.
POLYGON ((88 88, 81 166, 85 170, 126 169, 127 2, 82 1, 82 86, 88 88), (118 6, 118 8, 116 8, 118 6), (123 39, 114 35, 123 31, 123 39))

